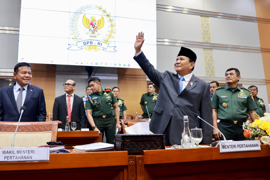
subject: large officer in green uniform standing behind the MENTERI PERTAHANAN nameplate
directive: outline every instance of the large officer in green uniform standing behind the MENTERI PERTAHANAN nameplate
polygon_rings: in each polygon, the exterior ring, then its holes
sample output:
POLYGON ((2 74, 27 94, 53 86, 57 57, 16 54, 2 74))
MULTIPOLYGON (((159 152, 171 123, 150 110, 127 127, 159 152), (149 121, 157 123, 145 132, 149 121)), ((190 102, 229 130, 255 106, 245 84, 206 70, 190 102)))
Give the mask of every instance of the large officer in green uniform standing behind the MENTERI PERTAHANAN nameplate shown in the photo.
MULTIPOLYGON (((256 103, 248 89, 238 86, 240 78, 238 69, 227 69, 227 85, 217 88, 212 98, 213 124, 224 134, 226 140, 245 140, 243 123, 246 122, 248 114, 252 121, 255 120, 256 103), (218 118, 220 121, 217 126, 218 118)), ((223 139, 221 133, 215 129, 213 134, 215 138, 223 139)))

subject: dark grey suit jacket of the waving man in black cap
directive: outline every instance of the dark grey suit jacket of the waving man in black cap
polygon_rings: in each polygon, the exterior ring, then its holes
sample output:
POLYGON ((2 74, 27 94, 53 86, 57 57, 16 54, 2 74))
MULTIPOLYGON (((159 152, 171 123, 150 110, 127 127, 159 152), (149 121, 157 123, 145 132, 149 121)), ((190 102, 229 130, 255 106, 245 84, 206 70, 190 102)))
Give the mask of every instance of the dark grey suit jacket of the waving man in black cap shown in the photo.
POLYGON ((134 59, 148 78, 159 87, 159 96, 151 117, 150 130, 155 134, 163 134, 170 118, 172 118, 170 144, 181 144, 184 129, 183 116, 187 115, 189 129, 202 128, 202 143, 210 144, 213 128, 195 117, 195 114, 198 114, 213 125, 210 85, 192 75, 188 85, 180 93, 177 74, 169 71, 163 73, 157 71, 146 59, 143 52, 137 57, 134 56, 134 59), (192 87, 190 82, 193 83, 192 87))

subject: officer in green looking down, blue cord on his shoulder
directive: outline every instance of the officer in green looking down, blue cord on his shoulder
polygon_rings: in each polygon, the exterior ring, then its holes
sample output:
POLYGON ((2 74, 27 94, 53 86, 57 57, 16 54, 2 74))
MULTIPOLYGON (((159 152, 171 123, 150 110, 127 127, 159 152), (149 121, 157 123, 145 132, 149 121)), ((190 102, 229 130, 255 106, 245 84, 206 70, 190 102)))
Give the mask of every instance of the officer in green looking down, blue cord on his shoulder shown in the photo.
POLYGON ((99 78, 91 78, 88 82, 93 93, 87 95, 85 102, 87 119, 94 131, 102 133, 102 138, 105 131, 106 142, 113 144, 116 128, 118 127, 121 130, 116 98, 112 92, 107 93, 101 87, 99 78), (116 122, 112 114, 112 106, 116 114, 116 122))

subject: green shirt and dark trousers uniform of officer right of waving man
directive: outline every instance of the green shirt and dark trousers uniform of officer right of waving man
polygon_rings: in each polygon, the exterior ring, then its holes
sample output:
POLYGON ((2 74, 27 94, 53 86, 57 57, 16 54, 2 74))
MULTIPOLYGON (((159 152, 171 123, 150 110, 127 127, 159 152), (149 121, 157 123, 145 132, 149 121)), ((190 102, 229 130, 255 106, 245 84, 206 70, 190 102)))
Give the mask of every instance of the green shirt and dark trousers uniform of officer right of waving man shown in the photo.
MULTIPOLYGON (((218 109, 218 129, 227 140, 245 140, 243 122, 248 117, 247 111, 256 109, 256 103, 250 91, 244 87, 219 87, 212 98, 212 108, 218 109)), ((223 137, 221 137, 223 139, 223 137)))

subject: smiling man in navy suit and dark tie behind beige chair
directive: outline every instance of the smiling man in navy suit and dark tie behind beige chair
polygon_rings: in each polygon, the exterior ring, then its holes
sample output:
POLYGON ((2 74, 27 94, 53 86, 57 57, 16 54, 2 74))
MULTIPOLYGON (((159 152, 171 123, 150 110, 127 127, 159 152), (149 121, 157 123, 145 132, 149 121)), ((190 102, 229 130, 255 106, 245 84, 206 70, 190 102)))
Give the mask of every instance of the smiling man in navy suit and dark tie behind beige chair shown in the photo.
POLYGON ((19 121, 21 106, 26 107, 21 122, 46 121, 43 89, 29 84, 32 79, 30 64, 16 64, 13 76, 16 82, 0 89, 0 121, 19 121))

